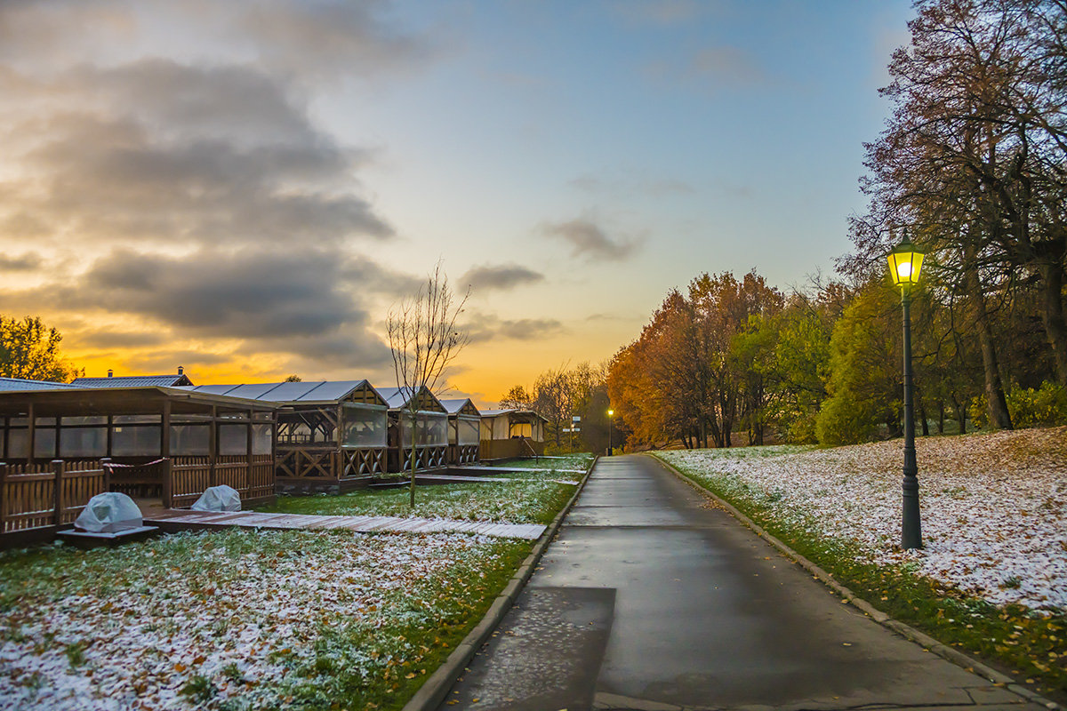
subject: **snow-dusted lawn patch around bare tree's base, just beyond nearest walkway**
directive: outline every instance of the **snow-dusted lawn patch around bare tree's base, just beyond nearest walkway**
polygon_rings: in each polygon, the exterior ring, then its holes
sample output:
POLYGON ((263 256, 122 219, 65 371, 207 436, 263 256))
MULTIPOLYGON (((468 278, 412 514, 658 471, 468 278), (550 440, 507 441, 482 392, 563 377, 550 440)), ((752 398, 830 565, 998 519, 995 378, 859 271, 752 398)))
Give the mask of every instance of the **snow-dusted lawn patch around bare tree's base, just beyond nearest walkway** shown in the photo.
POLYGON ((407 487, 361 489, 341 496, 280 497, 257 511, 285 514, 336 514, 345 516, 404 516, 449 518, 494 523, 550 523, 574 494, 580 474, 530 472, 501 473, 498 482, 441 484, 415 489, 415 507, 407 487), (566 479, 562 479, 566 478, 566 479))

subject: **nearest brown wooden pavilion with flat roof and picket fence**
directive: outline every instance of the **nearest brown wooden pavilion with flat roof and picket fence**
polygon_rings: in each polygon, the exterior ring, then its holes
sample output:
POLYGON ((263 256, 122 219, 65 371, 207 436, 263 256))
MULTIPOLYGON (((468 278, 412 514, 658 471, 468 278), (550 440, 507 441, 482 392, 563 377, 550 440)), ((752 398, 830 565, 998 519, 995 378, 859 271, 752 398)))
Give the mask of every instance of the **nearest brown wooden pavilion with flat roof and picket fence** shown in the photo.
POLYGON ((274 499, 271 404, 164 387, 3 390, 0 434, 0 531, 68 523, 108 490, 165 507, 218 484, 249 505, 274 499))

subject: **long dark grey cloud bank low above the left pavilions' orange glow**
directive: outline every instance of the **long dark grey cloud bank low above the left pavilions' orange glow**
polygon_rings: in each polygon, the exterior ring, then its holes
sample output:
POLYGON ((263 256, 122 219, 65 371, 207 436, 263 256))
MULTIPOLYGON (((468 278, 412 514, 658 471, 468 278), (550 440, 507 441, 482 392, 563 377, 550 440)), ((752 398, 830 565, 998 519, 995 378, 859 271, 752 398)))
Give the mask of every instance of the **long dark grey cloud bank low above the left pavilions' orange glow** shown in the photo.
MULTIPOLYGON (((365 300, 372 294, 346 277, 373 270, 361 261, 314 249, 203 249, 185 256, 117 249, 80 276, 0 296, 61 313, 134 317, 146 329, 160 324, 174 339, 237 341, 235 357, 274 353, 320 365, 380 367, 389 353, 371 330, 365 300)), ((130 333, 94 335, 89 325, 77 340, 98 348, 153 344, 150 337, 130 333)))

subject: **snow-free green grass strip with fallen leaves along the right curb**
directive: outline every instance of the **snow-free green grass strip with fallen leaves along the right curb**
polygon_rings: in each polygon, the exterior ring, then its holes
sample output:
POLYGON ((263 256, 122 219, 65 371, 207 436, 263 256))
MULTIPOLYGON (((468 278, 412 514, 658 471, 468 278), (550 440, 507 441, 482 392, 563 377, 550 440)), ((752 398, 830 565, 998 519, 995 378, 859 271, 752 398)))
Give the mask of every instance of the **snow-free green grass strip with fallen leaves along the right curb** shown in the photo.
MULTIPOLYGON (((751 448, 751 456, 789 456, 809 448, 751 448)), ((731 450, 736 455, 736 450, 731 450)), ((858 562, 853 544, 819 538, 811 527, 775 515, 773 505, 746 497, 724 471, 682 469, 791 548, 830 572, 878 610, 944 644, 1000 667, 1034 691, 1067 702, 1067 615, 1037 616, 1019 605, 998 608, 924 576, 907 565, 858 562)))

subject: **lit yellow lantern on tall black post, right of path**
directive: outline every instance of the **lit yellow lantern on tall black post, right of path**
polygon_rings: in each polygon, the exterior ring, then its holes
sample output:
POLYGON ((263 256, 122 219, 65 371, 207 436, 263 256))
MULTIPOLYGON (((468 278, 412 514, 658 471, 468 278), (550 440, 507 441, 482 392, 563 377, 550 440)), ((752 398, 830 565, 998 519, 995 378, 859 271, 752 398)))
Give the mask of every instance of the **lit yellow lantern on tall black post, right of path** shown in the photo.
POLYGON ((901 526, 901 546, 923 547, 922 523, 919 517, 919 465, 915 462, 915 416, 911 402, 911 287, 919 284, 919 271, 923 265, 923 251, 908 240, 889 253, 889 274, 893 284, 901 288, 901 305, 904 308, 904 515, 901 526))

